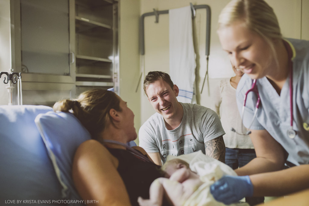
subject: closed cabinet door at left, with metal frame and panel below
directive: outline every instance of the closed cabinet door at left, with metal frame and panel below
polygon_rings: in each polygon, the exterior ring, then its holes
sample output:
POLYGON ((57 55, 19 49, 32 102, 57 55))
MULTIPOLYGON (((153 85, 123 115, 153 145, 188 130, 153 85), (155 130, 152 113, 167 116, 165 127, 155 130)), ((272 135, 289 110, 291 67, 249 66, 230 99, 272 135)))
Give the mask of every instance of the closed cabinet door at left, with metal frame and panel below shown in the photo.
POLYGON ((74 0, 10 0, 10 5, 12 69, 22 73, 23 104, 53 106, 75 98, 74 0))

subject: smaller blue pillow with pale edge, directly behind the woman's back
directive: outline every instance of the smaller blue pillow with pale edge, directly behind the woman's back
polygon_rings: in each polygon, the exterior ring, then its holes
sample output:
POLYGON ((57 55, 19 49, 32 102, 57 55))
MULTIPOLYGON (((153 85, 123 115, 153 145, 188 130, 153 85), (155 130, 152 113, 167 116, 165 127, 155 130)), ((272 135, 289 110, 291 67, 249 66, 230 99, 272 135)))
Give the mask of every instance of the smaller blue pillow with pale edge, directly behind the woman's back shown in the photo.
POLYGON ((81 200, 72 179, 72 163, 76 149, 90 133, 70 112, 48 112, 36 117, 35 123, 53 162, 66 200, 81 200))

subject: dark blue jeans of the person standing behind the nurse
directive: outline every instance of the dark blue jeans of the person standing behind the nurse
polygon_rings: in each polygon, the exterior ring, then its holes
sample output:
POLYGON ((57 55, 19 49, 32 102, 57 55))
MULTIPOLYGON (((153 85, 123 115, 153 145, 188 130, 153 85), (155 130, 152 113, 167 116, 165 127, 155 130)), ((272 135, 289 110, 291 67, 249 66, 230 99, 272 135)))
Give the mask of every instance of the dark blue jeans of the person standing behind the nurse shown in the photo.
MULTIPOLYGON (((233 170, 245 166, 254 158, 256 158, 254 149, 225 148, 225 164, 233 170)), ((246 202, 253 206, 263 203, 264 197, 246 197, 246 202)))

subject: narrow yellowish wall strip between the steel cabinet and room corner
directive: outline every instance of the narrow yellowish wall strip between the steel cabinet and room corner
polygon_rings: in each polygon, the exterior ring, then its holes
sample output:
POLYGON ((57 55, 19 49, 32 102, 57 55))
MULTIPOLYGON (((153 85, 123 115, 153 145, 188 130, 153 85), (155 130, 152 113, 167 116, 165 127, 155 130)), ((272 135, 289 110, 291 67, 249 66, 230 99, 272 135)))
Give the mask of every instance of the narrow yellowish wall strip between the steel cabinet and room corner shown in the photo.
MULTIPOLYGON (((128 103, 135 114, 134 125, 138 132, 141 125, 141 98, 135 92, 140 77, 138 53, 138 19, 140 15, 139 0, 119 1, 119 66, 120 97, 128 103)), ((138 143, 138 139, 136 140, 138 143)))

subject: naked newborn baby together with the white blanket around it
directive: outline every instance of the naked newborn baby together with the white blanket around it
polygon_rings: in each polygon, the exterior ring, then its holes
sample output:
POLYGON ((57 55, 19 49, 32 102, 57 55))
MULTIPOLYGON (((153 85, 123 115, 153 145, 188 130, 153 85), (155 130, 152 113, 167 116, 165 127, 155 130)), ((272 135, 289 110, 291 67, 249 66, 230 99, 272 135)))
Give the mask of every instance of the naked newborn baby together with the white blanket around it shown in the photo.
MULTIPOLYGON (((216 201, 211 195, 210 185, 223 175, 236 175, 229 166, 205 156, 201 151, 168 157, 162 170, 166 172, 166 177, 153 181, 148 200, 138 198, 141 206, 162 205, 163 197, 175 206, 223 206, 225 204, 216 201)), ((249 206, 244 202, 231 205, 249 206)))

